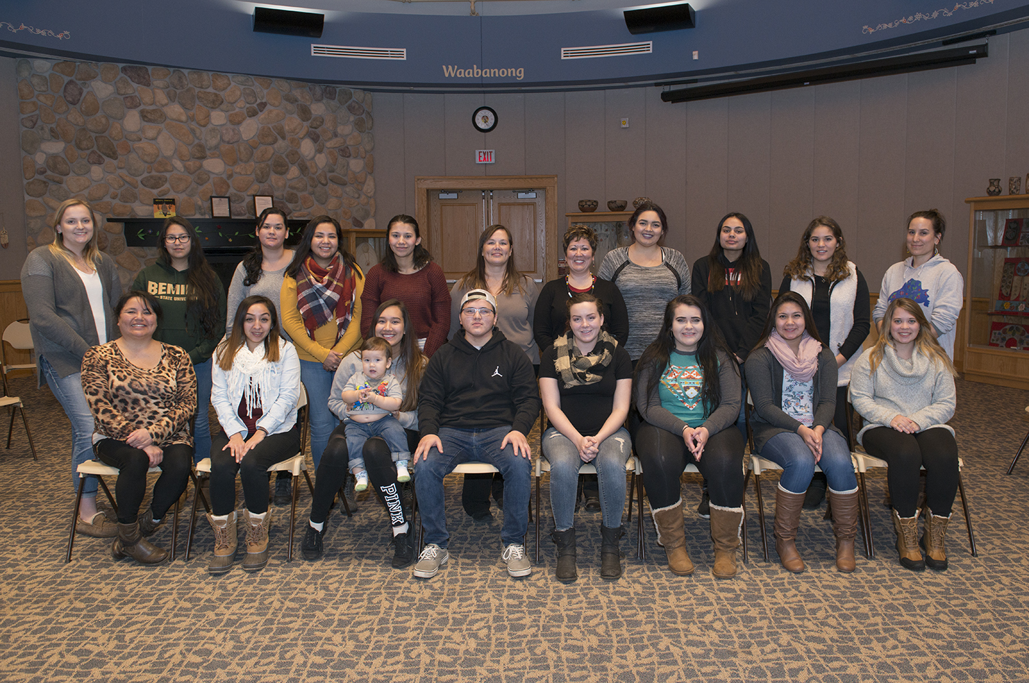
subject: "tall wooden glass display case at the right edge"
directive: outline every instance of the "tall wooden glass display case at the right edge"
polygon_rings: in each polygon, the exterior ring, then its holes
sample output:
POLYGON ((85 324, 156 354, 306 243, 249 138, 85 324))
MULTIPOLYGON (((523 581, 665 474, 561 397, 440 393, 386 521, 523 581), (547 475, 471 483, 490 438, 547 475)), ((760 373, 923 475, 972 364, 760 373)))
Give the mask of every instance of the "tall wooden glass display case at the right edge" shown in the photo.
POLYGON ((1029 195, 969 205, 965 283, 966 380, 1029 389, 1029 195))

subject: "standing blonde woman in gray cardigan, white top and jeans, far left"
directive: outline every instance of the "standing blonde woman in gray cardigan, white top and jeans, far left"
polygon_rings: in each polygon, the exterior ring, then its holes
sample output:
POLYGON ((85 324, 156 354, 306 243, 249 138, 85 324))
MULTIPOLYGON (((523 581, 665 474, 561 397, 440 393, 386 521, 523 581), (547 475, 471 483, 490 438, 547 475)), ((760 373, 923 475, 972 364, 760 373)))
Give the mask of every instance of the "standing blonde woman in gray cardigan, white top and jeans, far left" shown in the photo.
MULTIPOLYGON (((93 414, 82 393, 82 356, 90 347, 117 336, 114 303, 121 296, 114 260, 97 247, 96 216, 82 200, 67 200, 54 220, 55 241, 37 247, 22 266, 22 294, 43 378, 61 403, 72 433, 72 487, 75 469, 93 457, 93 414)), ((86 536, 117 535, 113 519, 97 511, 97 480, 82 488, 78 531, 86 536)))

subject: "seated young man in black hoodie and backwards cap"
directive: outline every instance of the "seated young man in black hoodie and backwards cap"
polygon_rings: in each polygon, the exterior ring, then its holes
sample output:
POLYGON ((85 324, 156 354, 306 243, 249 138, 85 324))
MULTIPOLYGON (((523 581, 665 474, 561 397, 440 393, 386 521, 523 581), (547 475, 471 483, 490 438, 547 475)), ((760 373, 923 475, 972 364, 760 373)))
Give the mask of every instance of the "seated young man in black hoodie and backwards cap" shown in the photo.
POLYGON ((525 435, 539 416, 539 389, 529 357, 494 329, 497 301, 485 289, 461 299, 461 330, 432 355, 418 392, 422 440, 415 452, 415 489, 425 549, 415 576, 429 578, 447 562, 443 477, 466 462, 504 475, 501 559, 511 576, 532 572, 523 540, 529 528, 532 456, 525 435))

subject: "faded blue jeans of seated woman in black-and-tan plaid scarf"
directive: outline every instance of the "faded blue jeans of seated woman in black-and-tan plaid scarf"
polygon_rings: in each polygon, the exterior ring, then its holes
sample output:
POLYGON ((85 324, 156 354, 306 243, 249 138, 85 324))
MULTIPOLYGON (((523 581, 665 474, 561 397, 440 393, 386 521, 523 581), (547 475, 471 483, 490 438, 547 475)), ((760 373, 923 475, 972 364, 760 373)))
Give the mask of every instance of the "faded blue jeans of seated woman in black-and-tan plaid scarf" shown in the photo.
MULTIPOLYGON (((543 433, 543 457, 551 463, 551 507, 558 531, 575 525, 575 494, 578 492, 578 471, 582 465, 575 445, 568 437, 551 427, 543 433)), ((626 506, 626 461, 632 453, 629 432, 623 427, 600 443, 600 452, 592 465, 597 467, 600 484, 600 509, 604 526, 622 526, 622 510, 626 506)))

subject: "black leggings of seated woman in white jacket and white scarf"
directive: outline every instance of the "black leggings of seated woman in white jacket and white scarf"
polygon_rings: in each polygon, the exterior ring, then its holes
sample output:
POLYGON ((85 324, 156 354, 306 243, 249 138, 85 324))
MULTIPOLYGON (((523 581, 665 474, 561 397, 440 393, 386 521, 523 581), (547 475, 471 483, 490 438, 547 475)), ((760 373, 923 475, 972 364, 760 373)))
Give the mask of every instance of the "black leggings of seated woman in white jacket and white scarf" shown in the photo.
POLYGON ((211 440, 211 507, 213 514, 228 514, 236 508, 236 473, 243 483, 243 503, 255 514, 268 512, 268 468, 288 460, 300 451, 300 430, 269 434, 243 460, 236 462, 232 451, 222 448, 228 437, 222 430, 211 440))

